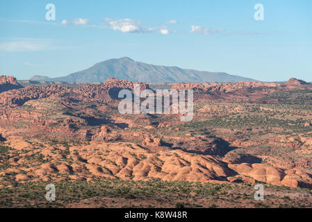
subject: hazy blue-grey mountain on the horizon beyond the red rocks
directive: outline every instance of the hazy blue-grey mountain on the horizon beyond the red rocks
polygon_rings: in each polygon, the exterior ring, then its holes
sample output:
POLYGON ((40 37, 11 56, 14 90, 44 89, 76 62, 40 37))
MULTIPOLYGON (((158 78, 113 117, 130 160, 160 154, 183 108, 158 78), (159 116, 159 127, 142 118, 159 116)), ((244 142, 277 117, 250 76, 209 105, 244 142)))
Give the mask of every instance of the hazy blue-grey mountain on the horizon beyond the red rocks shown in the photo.
POLYGON ((127 57, 99 62, 89 69, 78 71, 68 76, 58 78, 33 76, 30 80, 101 83, 111 77, 145 83, 227 83, 257 81, 251 78, 229 75, 224 72, 197 71, 193 69, 181 69, 179 67, 149 65, 144 62, 133 61, 131 58, 127 57))

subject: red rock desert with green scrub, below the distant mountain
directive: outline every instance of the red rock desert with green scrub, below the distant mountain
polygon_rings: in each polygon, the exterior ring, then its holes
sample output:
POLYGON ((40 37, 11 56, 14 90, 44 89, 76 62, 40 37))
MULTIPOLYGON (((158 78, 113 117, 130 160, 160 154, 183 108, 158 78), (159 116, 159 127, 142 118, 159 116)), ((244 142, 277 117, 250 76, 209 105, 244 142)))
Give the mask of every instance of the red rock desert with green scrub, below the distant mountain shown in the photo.
POLYGON ((120 114, 134 83, 1 76, 0 206, 312 207, 311 83, 140 83, 192 89, 190 122, 120 114))

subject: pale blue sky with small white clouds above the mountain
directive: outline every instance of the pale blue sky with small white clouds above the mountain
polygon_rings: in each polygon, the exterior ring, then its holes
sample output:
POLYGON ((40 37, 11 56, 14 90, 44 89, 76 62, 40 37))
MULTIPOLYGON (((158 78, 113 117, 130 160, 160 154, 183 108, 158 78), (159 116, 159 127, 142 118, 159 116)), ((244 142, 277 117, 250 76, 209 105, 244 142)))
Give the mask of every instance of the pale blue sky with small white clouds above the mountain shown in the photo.
POLYGON ((312 81, 312 1, 0 1, 0 74, 65 76, 110 58, 312 81), (56 20, 45 18, 47 3, 56 20), (254 19, 262 3, 264 20, 254 19))

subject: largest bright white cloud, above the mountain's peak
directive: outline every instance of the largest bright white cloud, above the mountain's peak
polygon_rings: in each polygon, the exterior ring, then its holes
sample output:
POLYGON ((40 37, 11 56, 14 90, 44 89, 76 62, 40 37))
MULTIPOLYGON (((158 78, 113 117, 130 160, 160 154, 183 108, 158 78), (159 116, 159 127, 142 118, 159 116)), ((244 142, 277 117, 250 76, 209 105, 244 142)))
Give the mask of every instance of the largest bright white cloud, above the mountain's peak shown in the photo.
POLYGON ((122 33, 146 33, 151 29, 144 28, 140 22, 133 19, 105 19, 110 28, 114 31, 121 31, 122 33))

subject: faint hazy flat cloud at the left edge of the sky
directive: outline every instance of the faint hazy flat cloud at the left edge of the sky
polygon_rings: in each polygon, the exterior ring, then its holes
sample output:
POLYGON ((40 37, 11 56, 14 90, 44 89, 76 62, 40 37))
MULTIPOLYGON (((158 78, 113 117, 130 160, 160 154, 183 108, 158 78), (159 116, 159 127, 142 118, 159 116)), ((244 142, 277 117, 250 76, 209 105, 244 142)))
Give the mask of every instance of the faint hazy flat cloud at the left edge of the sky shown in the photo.
POLYGON ((4 42, 0 44, 0 50, 4 51, 42 51, 48 48, 50 42, 44 40, 21 40, 4 42))

